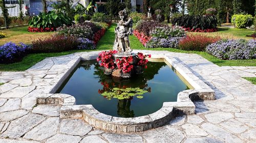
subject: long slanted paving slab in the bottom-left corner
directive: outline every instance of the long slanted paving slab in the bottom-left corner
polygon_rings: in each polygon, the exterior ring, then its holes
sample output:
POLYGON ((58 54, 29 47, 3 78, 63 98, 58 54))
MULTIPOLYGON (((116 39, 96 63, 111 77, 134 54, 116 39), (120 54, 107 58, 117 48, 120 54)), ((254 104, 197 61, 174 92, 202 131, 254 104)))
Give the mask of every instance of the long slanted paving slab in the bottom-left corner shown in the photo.
POLYGON ((45 120, 44 116, 29 113, 22 118, 12 121, 8 129, 1 135, 2 137, 18 138, 45 120))

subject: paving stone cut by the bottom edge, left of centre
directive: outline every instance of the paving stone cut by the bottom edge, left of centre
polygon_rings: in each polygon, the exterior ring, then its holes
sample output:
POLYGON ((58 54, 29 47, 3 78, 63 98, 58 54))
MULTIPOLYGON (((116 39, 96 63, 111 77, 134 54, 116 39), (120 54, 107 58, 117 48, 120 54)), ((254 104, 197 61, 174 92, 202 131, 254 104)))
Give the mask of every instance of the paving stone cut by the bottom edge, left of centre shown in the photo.
POLYGON ((47 139, 46 143, 78 143, 82 138, 79 136, 67 135, 67 134, 56 134, 53 137, 47 139))

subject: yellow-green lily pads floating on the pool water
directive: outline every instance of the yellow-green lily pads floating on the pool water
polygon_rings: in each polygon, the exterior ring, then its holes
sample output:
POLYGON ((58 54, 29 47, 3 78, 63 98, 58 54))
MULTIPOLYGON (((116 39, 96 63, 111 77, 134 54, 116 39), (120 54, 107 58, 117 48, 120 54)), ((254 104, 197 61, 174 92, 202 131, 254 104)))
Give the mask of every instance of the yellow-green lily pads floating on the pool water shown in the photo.
POLYGON ((106 99, 111 100, 112 98, 122 99, 131 99, 132 97, 137 97, 139 99, 143 98, 143 94, 147 93, 146 90, 140 88, 126 88, 119 89, 113 88, 110 92, 104 92, 101 95, 105 96, 106 99))

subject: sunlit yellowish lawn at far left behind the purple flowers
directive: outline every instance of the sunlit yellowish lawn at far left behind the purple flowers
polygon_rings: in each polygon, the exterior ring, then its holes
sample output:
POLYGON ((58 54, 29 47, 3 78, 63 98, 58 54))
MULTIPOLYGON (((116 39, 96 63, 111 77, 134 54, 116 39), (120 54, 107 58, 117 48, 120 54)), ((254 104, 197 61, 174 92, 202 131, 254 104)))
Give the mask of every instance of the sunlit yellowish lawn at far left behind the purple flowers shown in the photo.
POLYGON ((5 44, 6 42, 14 42, 14 43, 19 43, 23 42, 25 44, 31 43, 31 41, 41 38, 41 37, 46 37, 53 32, 49 33, 31 33, 28 32, 28 26, 19 26, 19 27, 13 27, 9 28, 8 30, 0 30, 0 33, 5 33, 7 36, 5 38, 0 39, 0 45, 5 44))

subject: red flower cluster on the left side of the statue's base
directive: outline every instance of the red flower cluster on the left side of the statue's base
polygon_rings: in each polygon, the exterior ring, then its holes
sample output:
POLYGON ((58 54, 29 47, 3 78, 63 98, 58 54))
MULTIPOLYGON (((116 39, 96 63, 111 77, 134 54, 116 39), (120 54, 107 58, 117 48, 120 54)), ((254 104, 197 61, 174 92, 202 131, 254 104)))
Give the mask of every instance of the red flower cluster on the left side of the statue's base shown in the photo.
POLYGON ((105 67, 107 69, 115 69, 115 63, 114 63, 114 56, 113 54, 116 54, 117 50, 109 50, 109 51, 102 51, 99 53, 99 56, 97 58, 97 61, 100 62, 101 67, 105 67))

